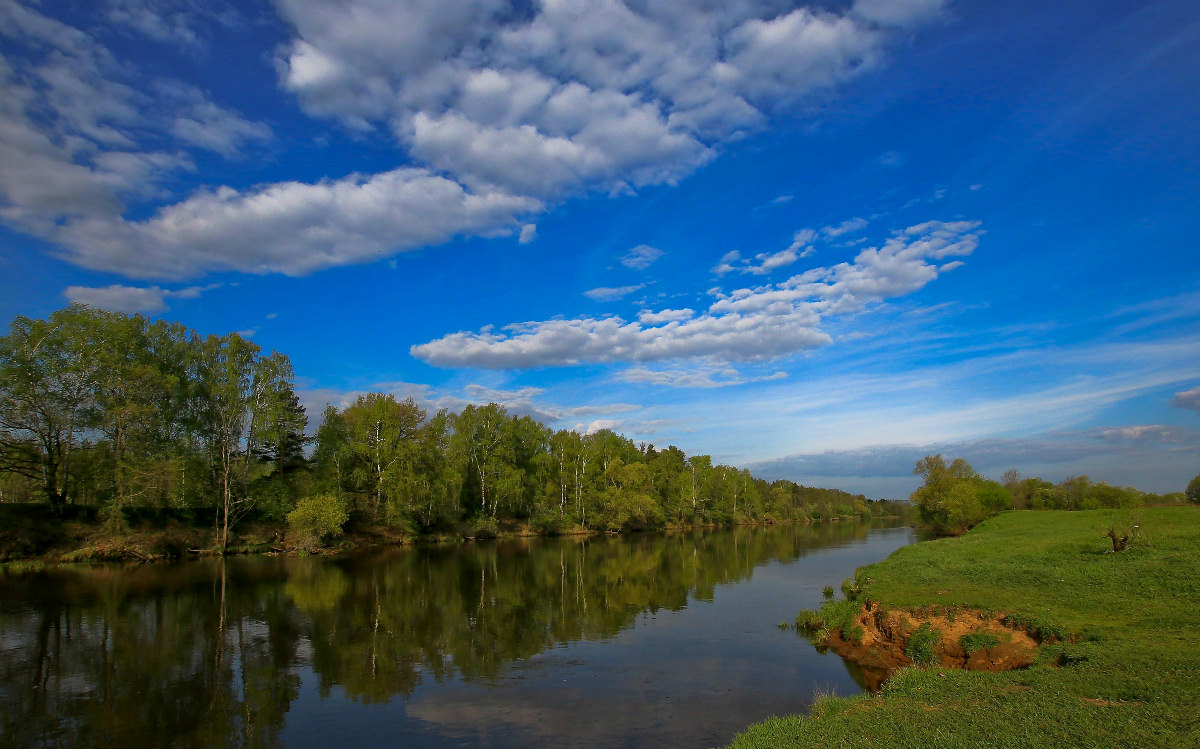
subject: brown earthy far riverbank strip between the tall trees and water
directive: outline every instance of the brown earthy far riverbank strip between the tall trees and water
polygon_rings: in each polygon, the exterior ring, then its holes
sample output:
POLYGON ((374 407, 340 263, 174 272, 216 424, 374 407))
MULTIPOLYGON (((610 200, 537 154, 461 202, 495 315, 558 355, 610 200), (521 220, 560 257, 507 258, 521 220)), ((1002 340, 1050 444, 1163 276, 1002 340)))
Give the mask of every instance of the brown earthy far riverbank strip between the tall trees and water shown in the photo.
MULTIPOLYGON (((833 522, 841 519, 833 517, 833 522)), ((902 522, 894 516, 871 516, 871 521, 902 522)), ((92 508, 68 507, 53 511, 42 504, 0 504, 0 567, 71 564, 79 562, 157 562, 221 553, 216 514, 209 511, 128 513, 125 528, 114 531, 92 508)), ((798 521, 791 521, 798 522, 798 521)), ((814 522, 814 521, 808 521, 814 522)), ((739 522, 733 525, 775 525, 739 522)), ((366 519, 353 520, 342 537, 325 546, 310 549, 294 543, 286 522, 251 519, 236 523, 227 555, 344 555, 413 544, 462 544, 485 539, 535 538, 547 535, 608 535, 612 532, 582 527, 541 533, 529 523, 461 523, 444 533, 418 534, 366 519)), ((656 528, 655 532, 713 529, 724 526, 695 525, 656 528)))

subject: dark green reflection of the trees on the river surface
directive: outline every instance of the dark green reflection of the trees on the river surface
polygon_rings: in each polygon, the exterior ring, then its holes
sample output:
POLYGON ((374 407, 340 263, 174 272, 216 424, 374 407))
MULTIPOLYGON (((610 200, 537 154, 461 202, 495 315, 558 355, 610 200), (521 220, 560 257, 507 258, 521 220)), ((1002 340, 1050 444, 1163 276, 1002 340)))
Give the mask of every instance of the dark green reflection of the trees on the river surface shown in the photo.
MULTIPOLYGON (((0 579, 0 745, 280 745, 306 679, 329 705, 403 711, 420 690, 410 715, 389 720, 470 727, 505 702, 520 707, 506 685, 536 678, 539 654, 614 640, 640 617, 712 600, 718 586, 766 562, 852 545, 868 532, 734 528, 10 575, 0 579), (437 685, 452 689, 431 693, 437 685)), ((692 672, 662 666, 658 687, 720 681, 703 675, 706 655, 677 654, 671 663, 692 672)), ((593 693, 571 684, 554 697, 577 703, 568 712, 584 723, 589 703, 612 697, 602 690, 628 690, 592 678, 593 693)), ((527 733, 551 720, 536 709, 529 703, 522 717, 527 733)))

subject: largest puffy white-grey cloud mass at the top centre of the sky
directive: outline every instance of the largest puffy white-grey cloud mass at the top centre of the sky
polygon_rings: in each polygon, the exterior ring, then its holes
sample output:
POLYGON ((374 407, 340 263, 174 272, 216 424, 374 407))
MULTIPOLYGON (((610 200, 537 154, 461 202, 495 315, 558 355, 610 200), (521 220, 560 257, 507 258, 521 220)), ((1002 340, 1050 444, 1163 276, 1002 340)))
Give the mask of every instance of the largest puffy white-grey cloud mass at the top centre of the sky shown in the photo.
POLYGON ((688 174, 710 145, 876 65, 883 26, 938 4, 278 5, 295 29, 280 79, 310 113, 384 127, 470 187, 552 199, 688 174))

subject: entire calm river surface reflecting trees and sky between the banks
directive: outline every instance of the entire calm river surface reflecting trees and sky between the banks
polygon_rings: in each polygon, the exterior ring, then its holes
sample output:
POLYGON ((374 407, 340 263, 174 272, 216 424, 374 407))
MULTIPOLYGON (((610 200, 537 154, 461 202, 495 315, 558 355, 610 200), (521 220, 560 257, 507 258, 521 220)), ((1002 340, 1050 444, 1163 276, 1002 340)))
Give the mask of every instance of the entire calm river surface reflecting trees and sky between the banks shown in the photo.
POLYGON ((776 624, 858 525, 0 576, 0 745, 709 747, 859 691, 776 624))

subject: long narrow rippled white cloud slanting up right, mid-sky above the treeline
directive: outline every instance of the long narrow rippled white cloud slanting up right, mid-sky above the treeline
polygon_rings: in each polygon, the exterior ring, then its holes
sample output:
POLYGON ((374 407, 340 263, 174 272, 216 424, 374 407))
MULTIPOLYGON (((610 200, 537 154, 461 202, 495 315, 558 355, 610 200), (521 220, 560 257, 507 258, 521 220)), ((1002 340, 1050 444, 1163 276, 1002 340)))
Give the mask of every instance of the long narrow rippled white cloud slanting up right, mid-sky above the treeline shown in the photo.
POLYGON ((460 331, 410 353, 437 366, 530 368, 587 362, 647 362, 713 358, 763 361, 832 342, 826 316, 912 293, 937 277, 942 262, 979 241, 978 222, 931 221, 896 232, 852 262, 814 268, 778 283, 716 292, 698 316, 582 317, 518 323, 500 332, 460 331))

